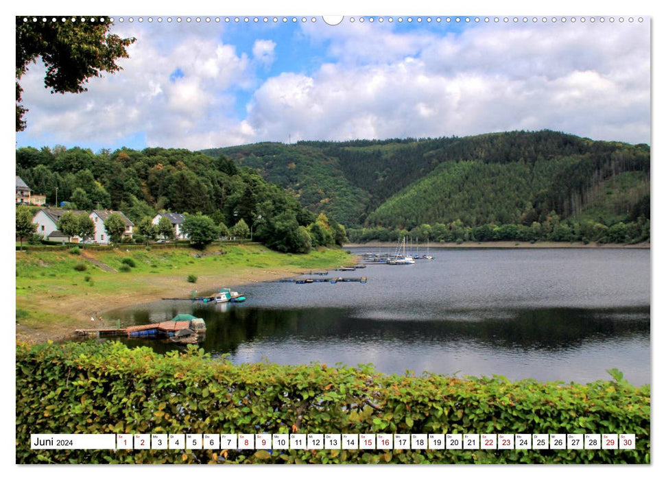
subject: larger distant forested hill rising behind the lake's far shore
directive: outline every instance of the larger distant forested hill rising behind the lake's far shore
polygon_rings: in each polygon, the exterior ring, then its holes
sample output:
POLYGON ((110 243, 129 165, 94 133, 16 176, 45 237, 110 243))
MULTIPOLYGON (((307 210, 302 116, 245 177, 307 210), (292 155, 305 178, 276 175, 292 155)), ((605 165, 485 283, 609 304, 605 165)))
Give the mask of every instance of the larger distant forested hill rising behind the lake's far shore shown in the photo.
MULTIPOLYGON (((650 218, 650 147, 543 130, 209 149, 348 227, 412 230, 650 218)), ((379 229, 379 230, 378 230, 379 229)), ((350 230, 350 239, 355 231, 350 230)), ((644 235, 643 235, 644 236, 644 235)), ((372 238, 372 234, 367 239, 372 238)), ((579 236, 580 237, 580 236, 579 236)))

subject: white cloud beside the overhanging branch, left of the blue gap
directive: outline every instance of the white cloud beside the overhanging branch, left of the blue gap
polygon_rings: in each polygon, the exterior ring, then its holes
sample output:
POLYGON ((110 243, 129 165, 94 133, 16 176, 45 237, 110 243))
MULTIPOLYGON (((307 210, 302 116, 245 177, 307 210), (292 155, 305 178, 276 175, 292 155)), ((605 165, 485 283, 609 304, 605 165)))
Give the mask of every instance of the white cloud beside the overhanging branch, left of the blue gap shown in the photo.
POLYGON ((130 57, 119 60, 122 71, 93 78, 86 93, 51 95, 43 87, 42 64, 23 77, 30 138, 108 145, 141 132, 151 146, 198 149, 217 145, 194 140, 215 139, 211 128, 224 123, 239 130, 240 120, 228 121, 235 108, 232 92, 256 80, 247 56, 222 43, 219 26, 213 32, 207 26, 126 24, 114 33, 137 38, 130 57), (180 75, 172 77, 176 69, 180 75))

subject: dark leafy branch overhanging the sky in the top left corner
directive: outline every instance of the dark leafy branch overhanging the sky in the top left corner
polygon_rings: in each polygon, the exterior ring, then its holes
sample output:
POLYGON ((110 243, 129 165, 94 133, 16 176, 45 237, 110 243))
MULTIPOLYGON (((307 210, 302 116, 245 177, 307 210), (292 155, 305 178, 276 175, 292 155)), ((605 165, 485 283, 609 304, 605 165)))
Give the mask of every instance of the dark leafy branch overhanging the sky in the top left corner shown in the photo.
POLYGON ((116 60, 128 58, 127 47, 136 39, 110 34, 107 17, 94 22, 72 20, 34 22, 16 17, 16 132, 25 130, 23 115, 27 112, 21 105, 23 88, 19 81, 37 58, 46 66, 44 86, 51 93, 84 92, 88 79, 101 76, 102 71, 121 70, 116 60))

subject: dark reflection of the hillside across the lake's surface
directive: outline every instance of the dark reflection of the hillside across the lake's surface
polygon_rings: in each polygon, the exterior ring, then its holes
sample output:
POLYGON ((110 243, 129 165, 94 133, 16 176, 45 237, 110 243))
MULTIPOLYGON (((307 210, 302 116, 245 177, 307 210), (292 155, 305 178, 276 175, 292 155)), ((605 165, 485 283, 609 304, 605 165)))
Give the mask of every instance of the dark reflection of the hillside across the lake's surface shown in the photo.
MULTIPOLYGON (((164 312, 165 320, 180 313, 164 312)), ((444 314, 442 320, 371 320, 344 309, 252 309, 231 305, 195 308, 193 315, 206 320, 204 350, 234 353, 244 343, 257 340, 299 339, 307 342, 344 341, 447 344, 473 342, 496 349, 567 350, 583 344, 650 337, 650 309, 523 309, 513 311, 462 311, 444 314)), ((136 324, 155 322, 150 311, 132 312, 136 324)), ((168 350, 172 346, 156 350, 168 350)))

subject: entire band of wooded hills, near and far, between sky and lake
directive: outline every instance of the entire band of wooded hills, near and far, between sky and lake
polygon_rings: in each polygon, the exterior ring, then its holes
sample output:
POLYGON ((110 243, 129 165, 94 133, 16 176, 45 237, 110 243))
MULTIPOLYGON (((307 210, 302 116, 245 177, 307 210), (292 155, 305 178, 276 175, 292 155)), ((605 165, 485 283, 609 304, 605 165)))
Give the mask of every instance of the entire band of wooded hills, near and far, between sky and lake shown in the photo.
MULTIPOLYGON (((16 150, 47 202, 243 221, 276 250, 351 241, 650 239, 650 147, 543 130, 185 149, 16 150), (319 215, 319 216, 318 216, 319 215), (346 230, 344 227, 346 227, 346 230)), ((222 228, 224 231, 224 228, 222 228)))

